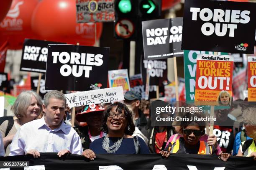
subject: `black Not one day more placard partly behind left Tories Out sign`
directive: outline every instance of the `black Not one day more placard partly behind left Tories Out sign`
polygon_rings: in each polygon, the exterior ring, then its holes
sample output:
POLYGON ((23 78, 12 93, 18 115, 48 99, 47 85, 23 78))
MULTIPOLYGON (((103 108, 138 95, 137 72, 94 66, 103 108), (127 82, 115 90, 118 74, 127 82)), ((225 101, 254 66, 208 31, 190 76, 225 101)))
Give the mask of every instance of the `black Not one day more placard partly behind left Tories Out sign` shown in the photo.
POLYGON ((25 39, 22 49, 20 71, 46 73, 48 44, 64 44, 54 41, 25 39))

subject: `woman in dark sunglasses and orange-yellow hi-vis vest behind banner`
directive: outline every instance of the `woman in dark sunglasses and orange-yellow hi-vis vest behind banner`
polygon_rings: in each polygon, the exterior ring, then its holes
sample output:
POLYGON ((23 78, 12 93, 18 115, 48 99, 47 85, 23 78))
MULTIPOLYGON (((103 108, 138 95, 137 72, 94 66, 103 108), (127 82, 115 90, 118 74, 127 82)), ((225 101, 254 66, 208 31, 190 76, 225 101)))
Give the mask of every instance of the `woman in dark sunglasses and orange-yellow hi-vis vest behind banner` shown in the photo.
MULTIPOLYGON (((180 137, 175 142, 170 142, 167 147, 160 152, 161 155, 163 157, 169 157, 171 153, 214 154, 216 150, 214 145, 208 145, 207 142, 200 141, 200 137, 205 134, 205 122, 197 121, 195 117, 199 117, 199 115, 196 113, 187 113, 184 117, 187 117, 189 121, 181 122, 180 133, 183 134, 183 137, 180 137)), ((229 156, 228 154, 222 153, 221 158, 226 161, 229 156)))

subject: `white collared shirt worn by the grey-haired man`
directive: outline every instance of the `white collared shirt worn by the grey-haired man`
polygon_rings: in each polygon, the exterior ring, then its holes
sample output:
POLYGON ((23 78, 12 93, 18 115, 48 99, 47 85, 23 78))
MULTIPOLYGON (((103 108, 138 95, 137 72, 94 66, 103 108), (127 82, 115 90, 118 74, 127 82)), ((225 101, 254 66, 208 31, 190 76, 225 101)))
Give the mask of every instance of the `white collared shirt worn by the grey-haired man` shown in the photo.
POLYGON ((10 145, 9 156, 25 155, 32 149, 38 152, 69 150, 79 155, 83 152, 80 137, 72 127, 62 122, 59 128, 51 130, 44 117, 20 127, 10 145))

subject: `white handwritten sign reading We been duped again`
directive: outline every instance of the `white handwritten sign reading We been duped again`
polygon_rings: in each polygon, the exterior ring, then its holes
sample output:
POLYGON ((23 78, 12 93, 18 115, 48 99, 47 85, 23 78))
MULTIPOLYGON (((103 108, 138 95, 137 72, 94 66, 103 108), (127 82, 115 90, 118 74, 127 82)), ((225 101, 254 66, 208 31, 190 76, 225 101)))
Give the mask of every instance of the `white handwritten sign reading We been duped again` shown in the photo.
POLYGON ((76 93, 65 94, 67 104, 71 107, 89 105, 90 103, 111 103, 124 100, 123 88, 112 87, 99 90, 81 91, 76 93))

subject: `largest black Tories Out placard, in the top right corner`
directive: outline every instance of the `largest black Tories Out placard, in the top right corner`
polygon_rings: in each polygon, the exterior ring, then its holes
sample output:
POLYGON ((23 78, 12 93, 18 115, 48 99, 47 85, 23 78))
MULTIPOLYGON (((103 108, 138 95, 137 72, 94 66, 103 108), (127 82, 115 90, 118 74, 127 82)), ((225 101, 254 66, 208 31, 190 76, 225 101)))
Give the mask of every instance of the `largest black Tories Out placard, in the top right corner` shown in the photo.
POLYGON ((182 49, 253 54, 256 3, 185 0, 182 49))

